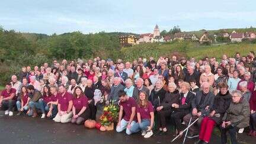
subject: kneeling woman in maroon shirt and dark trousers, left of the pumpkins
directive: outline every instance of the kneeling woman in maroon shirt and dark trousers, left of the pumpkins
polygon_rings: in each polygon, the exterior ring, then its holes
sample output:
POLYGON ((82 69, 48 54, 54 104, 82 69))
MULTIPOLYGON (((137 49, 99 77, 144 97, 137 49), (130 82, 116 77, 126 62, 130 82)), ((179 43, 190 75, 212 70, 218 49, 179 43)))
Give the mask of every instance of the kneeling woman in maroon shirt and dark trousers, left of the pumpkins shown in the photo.
POLYGON ((90 118, 88 98, 83 94, 81 87, 76 87, 73 93, 73 117, 71 123, 82 124, 90 118))

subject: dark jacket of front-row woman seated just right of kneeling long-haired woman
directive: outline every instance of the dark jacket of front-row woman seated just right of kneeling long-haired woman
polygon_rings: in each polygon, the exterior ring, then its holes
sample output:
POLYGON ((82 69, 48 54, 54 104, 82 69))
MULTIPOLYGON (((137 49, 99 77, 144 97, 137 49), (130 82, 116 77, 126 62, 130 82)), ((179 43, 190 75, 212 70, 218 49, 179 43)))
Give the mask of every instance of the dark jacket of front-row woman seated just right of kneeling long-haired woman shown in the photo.
POLYGON ((153 104, 153 107, 158 107, 162 101, 165 98, 165 94, 167 91, 165 91, 164 88, 159 89, 159 91, 155 91, 155 89, 152 89, 151 96, 149 97, 149 101, 153 104))

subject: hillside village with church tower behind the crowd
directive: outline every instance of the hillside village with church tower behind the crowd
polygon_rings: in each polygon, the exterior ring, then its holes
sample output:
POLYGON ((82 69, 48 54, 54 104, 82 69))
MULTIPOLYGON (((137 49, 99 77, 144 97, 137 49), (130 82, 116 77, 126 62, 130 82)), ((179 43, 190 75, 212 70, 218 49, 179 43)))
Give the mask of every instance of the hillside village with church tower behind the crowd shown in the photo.
MULTIPOLYGON (((158 24, 155 25, 153 33, 145 34, 126 34, 119 36, 121 46, 132 46, 140 43, 168 43, 171 41, 197 41, 200 44, 211 43, 239 43, 242 41, 252 41, 256 39, 256 33, 254 31, 239 32, 231 29, 222 30, 200 30, 181 32, 180 28, 177 33, 174 34, 162 34, 160 32, 158 24), (231 32, 232 31, 232 32, 231 32)), ((250 29, 250 28, 248 28, 250 29)), ((165 30, 164 30, 165 31, 165 30)))

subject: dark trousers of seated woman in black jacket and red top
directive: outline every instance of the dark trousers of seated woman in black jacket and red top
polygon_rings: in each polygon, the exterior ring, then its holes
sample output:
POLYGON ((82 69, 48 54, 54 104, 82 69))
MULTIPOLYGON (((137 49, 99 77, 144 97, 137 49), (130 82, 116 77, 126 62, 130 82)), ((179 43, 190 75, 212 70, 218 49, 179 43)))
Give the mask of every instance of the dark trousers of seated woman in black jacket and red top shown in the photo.
POLYGON ((172 123, 174 123, 174 126, 178 130, 178 132, 181 131, 181 120, 186 115, 187 115, 187 112, 185 112, 185 111, 175 111, 171 115, 172 123))

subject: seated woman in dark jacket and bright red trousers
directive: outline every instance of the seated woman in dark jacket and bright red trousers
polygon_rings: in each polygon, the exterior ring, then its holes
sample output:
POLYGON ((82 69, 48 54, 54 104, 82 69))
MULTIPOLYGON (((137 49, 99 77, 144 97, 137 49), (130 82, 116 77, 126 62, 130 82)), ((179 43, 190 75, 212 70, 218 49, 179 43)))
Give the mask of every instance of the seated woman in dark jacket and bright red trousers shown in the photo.
POLYGON ((219 83, 219 94, 216 95, 213 107, 210 108, 208 117, 201 121, 199 141, 197 143, 209 143, 215 126, 222 123, 222 117, 231 103, 231 94, 226 83, 219 83))

